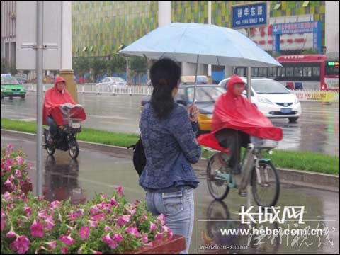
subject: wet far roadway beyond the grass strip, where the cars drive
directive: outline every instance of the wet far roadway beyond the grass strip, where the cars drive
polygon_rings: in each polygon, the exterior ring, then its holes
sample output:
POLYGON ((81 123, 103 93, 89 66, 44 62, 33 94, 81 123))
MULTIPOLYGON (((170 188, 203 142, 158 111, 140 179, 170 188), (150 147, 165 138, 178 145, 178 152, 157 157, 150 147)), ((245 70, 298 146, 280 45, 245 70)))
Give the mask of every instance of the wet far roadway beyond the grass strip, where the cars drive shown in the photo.
MULTIPOLYGON (((139 132, 140 100, 142 96, 111 96, 79 94, 79 103, 86 109, 86 128, 113 132, 139 132)), ((283 128, 283 141, 279 149, 322 152, 339 156, 339 103, 301 102, 302 116, 298 123, 287 119, 272 120, 283 128)), ((17 120, 35 120, 35 93, 26 100, 8 98, 1 101, 1 117, 17 120)))

